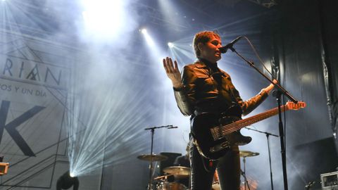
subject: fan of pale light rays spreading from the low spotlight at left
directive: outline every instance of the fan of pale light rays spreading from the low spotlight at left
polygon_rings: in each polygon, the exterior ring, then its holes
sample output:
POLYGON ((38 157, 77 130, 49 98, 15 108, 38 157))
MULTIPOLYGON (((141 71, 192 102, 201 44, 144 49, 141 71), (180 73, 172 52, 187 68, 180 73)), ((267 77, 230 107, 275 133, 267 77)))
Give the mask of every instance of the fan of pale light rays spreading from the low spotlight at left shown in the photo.
MULTIPOLYGON (((145 122, 145 115, 149 114, 151 109, 149 106, 147 108, 146 105, 142 105, 146 102, 143 99, 148 94, 144 91, 142 93, 135 93, 134 90, 131 92, 132 89, 136 89, 136 87, 122 90, 111 89, 111 91, 98 93, 105 94, 100 97, 100 99, 103 98, 101 102, 104 105, 94 110, 87 121, 88 127, 82 135, 70 135, 68 156, 70 157, 70 172, 73 175, 85 175, 88 172, 101 169, 102 162, 105 166, 120 163, 130 155, 129 153, 121 153, 123 152, 121 148, 128 148, 131 153, 144 149, 145 144, 137 140, 144 135, 144 132, 136 127, 139 123, 145 122), (113 99, 117 94, 132 95, 113 99), (135 117, 137 114, 139 117, 135 117), (133 133, 130 134, 130 131, 133 133), (104 156, 105 150, 106 156, 104 156)), ((73 103, 75 113, 78 113, 77 118, 82 118, 80 114, 81 101, 74 99, 73 103)), ((68 120, 69 133, 83 129, 84 126, 79 125, 76 121, 68 120)))

